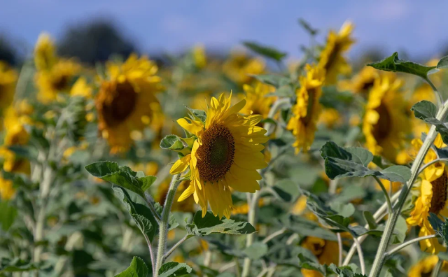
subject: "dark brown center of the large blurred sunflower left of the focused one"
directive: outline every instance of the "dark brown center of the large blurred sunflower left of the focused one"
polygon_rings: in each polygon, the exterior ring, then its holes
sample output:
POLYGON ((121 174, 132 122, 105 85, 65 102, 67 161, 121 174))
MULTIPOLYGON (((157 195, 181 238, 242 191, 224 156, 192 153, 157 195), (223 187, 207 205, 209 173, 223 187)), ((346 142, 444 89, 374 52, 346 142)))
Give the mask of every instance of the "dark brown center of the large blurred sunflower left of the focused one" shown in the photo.
POLYGON ((115 126, 130 116, 137 104, 137 92, 129 82, 118 83, 115 95, 104 105, 104 120, 107 125, 115 126))

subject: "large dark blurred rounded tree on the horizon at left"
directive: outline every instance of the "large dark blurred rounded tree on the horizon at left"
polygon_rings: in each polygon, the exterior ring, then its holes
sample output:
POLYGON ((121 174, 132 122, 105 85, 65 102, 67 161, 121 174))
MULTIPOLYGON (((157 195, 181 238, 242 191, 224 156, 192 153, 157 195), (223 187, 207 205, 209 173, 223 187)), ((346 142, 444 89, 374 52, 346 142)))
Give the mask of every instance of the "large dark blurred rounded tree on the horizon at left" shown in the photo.
POLYGON ((59 55, 78 57, 81 62, 104 62, 111 55, 126 58, 135 52, 134 44, 109 21, 95 20, 69 27, 58 45, 59 55))

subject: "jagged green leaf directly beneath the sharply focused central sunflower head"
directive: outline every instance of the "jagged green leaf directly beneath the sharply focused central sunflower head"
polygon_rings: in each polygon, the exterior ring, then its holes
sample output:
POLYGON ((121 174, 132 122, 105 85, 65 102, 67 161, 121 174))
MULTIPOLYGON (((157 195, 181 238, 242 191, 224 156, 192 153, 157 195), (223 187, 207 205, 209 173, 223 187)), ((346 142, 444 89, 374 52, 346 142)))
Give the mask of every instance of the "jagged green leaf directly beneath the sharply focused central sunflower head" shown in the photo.
POLYGON ((191 236, 208 236, 213 233, 221 234, 252 234, 255 228, 248 222, 238 222, 231 219, 220 220, 209 211, 202 218, 202 212, 197 211, 193 223, 186 225, 187 233, 191 236))

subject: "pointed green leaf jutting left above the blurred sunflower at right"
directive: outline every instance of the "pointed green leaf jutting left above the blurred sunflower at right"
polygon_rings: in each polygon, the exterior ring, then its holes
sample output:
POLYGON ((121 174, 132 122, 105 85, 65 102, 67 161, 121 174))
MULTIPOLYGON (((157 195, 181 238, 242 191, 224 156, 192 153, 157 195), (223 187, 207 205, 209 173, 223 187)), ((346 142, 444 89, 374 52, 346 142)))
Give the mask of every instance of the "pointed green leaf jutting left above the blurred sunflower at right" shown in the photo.
POLYGON ((429 71, 435 69, 435 66, 423 66, 422 64, 417 64, 415 62, 398 59, 398 52, 393 53, 391 57, 386 57, 386 59, 379 62, 367 64, 367 66, 372 66, 374 69, 384 71, 410 73, 420 76, 423 79, 427 78, 429 71))

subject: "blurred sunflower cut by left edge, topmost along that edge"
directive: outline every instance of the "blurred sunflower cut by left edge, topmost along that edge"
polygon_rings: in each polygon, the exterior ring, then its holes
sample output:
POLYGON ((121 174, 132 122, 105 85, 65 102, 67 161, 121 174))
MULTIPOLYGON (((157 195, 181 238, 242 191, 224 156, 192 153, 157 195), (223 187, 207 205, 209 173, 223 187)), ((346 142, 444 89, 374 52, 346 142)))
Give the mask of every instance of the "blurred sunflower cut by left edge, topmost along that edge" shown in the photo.
POLYGON ((13 102, 17 78, 17 72, 0 61, 0 111, 13 102))

